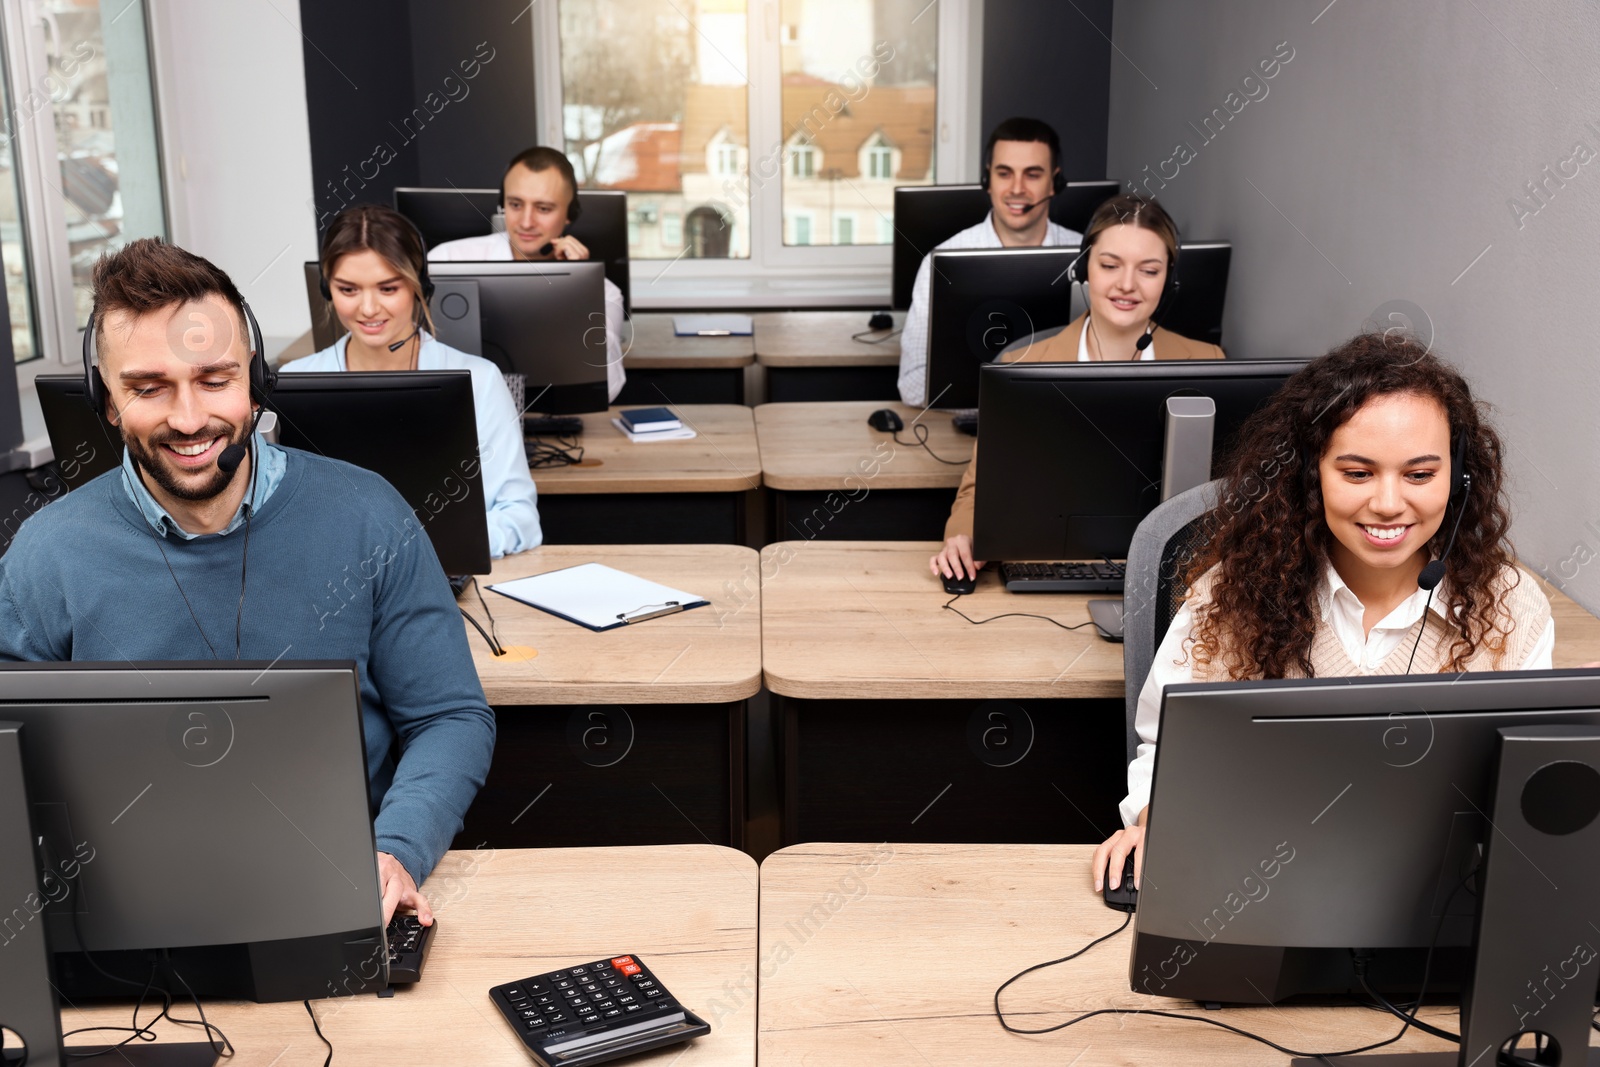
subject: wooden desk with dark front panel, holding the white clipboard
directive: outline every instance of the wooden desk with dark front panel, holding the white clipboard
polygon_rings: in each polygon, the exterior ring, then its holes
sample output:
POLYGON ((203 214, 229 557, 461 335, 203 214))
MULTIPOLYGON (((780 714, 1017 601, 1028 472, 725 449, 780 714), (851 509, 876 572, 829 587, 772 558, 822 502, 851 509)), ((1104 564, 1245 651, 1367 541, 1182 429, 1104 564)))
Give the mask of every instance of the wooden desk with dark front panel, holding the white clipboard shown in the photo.
MULTIPOLYGON (((544 545, 498 560, 480 585, 578 563, 605 563, 710 605, 595 633, 485 590, 509 654, 494 657, 467 630, 499 733, 456 843, 741 846, 746 701, 762 688, 755 552, 544 545), (595 817, 597 795, 616 803, 614 817, 595 817), (523 817, 533 801, 538 817, 523 817)), ((461 605, 482 621, 477 597, 467 592, 461 605)))

